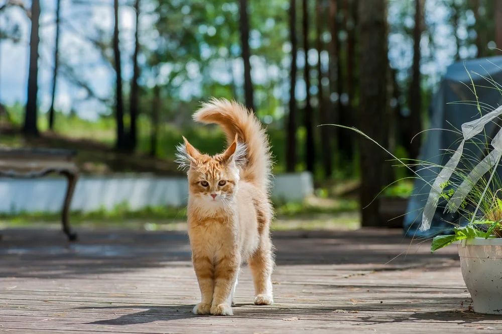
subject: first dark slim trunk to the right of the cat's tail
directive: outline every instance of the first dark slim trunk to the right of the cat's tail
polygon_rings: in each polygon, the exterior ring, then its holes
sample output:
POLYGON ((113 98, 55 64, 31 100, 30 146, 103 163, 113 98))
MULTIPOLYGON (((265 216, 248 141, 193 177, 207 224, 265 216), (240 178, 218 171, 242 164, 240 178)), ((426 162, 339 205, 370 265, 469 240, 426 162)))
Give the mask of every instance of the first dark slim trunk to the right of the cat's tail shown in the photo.
POLYGON ((291 72, 289 87, 289 115, 288 115, 288 143, 286 151, 286 170, 290 173, 296 167, 296 59, 298 53, 298 40, 296 37, 296 0, 291 0, 289 5, 289 24, 291 38, 291 72))

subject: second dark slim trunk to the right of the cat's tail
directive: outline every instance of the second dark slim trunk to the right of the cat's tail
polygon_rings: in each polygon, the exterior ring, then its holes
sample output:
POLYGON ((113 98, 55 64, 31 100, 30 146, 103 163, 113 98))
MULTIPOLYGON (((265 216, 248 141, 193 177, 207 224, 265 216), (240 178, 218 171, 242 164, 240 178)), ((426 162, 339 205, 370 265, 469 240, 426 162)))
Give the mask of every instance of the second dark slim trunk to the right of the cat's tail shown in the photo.
POLYGON ((314 173, 315 169, 315 144, 314 144, 314 111, 310 103, 310 65, 308 62, 309 51, 309 9, 307 0, 302 0, 303 4, 303 50, 305 52, 305 67, 303 71, 303 78, 305 80, 305 110, 304 110, 304 126, 306 130, 305 140, 305 163, 307 170, 314 173))

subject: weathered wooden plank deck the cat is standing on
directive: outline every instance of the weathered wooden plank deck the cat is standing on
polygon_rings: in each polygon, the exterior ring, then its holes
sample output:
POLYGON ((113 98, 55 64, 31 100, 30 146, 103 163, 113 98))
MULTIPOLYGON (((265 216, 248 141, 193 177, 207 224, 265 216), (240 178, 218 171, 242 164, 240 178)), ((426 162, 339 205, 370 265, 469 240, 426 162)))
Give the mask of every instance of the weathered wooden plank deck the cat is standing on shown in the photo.
POLYGON ((243 268, 229 317, 191 314, 185 233, 79 233, 70 246, 55 230, 3 231, 0 332, 502 332, 501 317, 469 311, 456 248, 430 254, 400 230, 274 233, 276 304, 251 305, 243 268))

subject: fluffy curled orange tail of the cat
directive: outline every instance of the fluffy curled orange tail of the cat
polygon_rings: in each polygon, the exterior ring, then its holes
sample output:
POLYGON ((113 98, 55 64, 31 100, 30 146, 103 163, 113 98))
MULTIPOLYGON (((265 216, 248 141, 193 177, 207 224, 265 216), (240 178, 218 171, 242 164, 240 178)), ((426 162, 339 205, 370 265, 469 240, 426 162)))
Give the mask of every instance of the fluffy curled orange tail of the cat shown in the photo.
POLYGON ((216 123, 225 132, 228 144, 238 140, 246 145, 247 163, 242 166, 241 178, 268 192, 272 177, 272 160, 268 136, 260 121, 243 105, 235 101, 213 98, 193 115, 195 121, 216 123))

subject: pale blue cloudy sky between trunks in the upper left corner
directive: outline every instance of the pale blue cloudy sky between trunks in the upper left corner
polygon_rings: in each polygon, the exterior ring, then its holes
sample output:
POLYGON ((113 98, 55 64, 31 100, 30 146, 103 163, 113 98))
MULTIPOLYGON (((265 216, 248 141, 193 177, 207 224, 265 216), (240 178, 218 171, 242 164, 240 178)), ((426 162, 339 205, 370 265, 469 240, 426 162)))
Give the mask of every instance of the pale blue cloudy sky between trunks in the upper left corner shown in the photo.
MULTIPOLYGON (((111 2, 110 2, 111 4, 111 2)), ((47 110, 51 102, 52 91, 52 68, 54 66, 54 39, 55 39, 55 0, 41 0, 40 16, 40 45, 39 45, 39 105, 41 110, 47 110)), ((61 2, 61 18, 72 17, 73 20, 62 30, 60 35, 61 58, 74 64, 79 76, 89 82, 94 91, 102 97, 112 94, 112 71, 101 58, 100 54, 78 34, 85 31, 88 26, 100 27, 105 31, 113 31, 112 7, 90 7, 90 15, 76 16, 75 11, 82 8, 71 7, 68 0, 61 2), (90 19, 90 22, 89 22, 90 19)), ((87 9, 88 10, 88 9, 87 9)), ((29 40, 30 21, 25 13, 17 8, 11 8, 8 12, 10 19, 21 24, 22 40, 19 43, 4 40, 0 44, 0 101, 4 104, 13 104, 16 101, 26 102, 28 63, 29 63, 29 40)), ((129 7, 123 6, 119 13, 119 29, 122 57, 127 59, 132 54, 134 45, 133 29, 135 25, 134 12, 129 7)), ((130 62, 124 62, 123 76, 132 76, 130 62)), ((55 108, 69 113, 75 108, 82 118, 95 119, 105 107, 96 101, 81 101, 86 93, 71 84, 64 76, 58 76, 55 108)))

